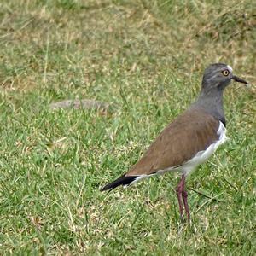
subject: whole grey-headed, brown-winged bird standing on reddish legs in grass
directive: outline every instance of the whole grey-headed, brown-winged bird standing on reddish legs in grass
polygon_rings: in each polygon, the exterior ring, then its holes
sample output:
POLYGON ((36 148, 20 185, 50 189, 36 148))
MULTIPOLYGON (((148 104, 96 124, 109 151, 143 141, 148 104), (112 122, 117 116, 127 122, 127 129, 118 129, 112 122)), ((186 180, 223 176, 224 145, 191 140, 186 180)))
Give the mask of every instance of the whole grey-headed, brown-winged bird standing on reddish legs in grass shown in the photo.
POLYGON ((120 185, 127 187, 146 177, 177 171, 181 176, 175 189, 180 218, 183 219, 185 211, 190 221, 186 178, 228 138, 223 94, 231 80, 247 84, 246 80, 233 74, 229 65, 209 65, 204 71, 201 92, 195 102, 160 132, 128 172, 102 187, 101 191, 111 191, 120 185))

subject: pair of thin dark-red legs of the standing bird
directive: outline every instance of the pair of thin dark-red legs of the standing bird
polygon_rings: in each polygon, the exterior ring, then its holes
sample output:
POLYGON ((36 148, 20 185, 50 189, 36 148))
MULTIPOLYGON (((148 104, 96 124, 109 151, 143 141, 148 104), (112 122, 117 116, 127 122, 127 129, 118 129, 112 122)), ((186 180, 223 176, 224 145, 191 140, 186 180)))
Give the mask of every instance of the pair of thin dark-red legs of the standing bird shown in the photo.
POLYGON ((177 192, 177 201, 179 206, 180 218, 183 218, 183 205, 184 205, 185 212, 189 221, 190 213, 189 213, 189 205, 187 201, 188 192, 185 190, 185 175, 182 176, 180 183, 178 183, 176 192, 177 192))

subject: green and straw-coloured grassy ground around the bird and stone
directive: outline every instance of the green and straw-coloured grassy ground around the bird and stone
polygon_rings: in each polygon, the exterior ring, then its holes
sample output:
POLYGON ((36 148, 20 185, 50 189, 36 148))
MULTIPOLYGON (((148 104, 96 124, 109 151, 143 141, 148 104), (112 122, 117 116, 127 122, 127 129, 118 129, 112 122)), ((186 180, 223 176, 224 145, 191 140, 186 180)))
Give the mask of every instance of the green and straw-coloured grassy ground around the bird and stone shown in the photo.
POLYGON ((254 1, 0 3, 0 253, 255 255, 254 1), (99 188, 137 161, 223 61, 250 83, 225 91, 228 136, 189 178, 192 224, 171 173, 99 188), (112 102, 113 113, 50 111, 112 102))

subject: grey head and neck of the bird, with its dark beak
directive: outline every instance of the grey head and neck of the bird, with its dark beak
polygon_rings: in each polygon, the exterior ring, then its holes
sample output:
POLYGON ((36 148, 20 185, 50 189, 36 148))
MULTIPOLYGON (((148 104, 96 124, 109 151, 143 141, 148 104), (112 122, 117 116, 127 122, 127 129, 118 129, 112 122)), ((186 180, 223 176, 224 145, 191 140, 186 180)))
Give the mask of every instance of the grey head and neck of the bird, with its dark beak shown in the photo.
POLYGON ((200 108, 219 119, 225 125, 223 92, 231 80, 247 84, 233 74, 233 69, 224 63, 214 63, 206 68, 201 83, 201 93, 190 108, 200 108))

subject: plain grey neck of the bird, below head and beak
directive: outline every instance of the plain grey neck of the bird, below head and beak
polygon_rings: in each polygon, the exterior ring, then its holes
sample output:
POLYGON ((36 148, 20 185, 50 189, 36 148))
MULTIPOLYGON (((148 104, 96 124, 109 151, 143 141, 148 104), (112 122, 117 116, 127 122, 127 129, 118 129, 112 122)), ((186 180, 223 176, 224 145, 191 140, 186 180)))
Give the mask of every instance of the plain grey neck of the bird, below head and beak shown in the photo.
POLYGON ((197 101, 192 104, 191 108, 199 108, 211 114, 225 125, 223 91, 219 88, 212 88, 211 90, 202 89, 197 101))

